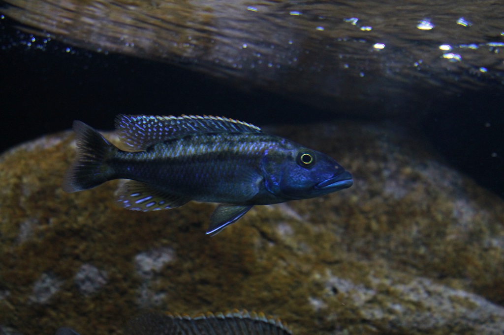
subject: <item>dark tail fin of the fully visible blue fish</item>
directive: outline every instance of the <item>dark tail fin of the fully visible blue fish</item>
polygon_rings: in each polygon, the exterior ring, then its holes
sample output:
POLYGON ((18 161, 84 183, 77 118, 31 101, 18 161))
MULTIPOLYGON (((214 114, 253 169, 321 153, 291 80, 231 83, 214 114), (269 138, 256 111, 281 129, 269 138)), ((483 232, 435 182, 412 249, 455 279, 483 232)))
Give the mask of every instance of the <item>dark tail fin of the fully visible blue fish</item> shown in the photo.
POLYGON ((61 185, 65 192, 87 190, 109 181, 113 170, 106 161, 117 150, 84 122, 74 121, 74 131, 77 156, 61 185))

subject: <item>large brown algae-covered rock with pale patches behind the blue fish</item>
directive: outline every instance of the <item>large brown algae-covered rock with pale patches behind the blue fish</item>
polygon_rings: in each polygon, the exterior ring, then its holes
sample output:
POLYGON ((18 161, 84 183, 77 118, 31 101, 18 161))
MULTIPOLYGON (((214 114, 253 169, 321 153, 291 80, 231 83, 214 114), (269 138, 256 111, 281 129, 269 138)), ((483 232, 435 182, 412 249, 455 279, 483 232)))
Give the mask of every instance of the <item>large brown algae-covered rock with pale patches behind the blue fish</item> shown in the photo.
POLYGON ((299 335, 502 333, 502 199, 400 127, 347 121, 266 131, 329 154, 352 171, 354 186, 257 206, 209 237, 212 204, 143 213, 114 205, 116 182, 62 191, 71 132, 5 152, 0 326, 105 334, 145 307, 191 315, 245 308, 281 317, 299 335), (75 282, 85 265, 106 273, 88 295, 75 282), (57 290, 34 303, 44 278, 57 290))

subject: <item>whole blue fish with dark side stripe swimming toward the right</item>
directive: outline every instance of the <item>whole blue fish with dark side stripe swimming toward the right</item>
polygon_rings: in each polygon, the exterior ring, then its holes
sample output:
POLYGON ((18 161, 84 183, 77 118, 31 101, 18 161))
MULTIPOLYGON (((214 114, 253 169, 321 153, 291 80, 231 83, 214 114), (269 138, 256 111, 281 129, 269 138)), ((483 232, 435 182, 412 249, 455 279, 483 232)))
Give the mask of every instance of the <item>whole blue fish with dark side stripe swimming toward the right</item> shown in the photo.
POLYGON ((125 179, 115 193, 130 210, 157 211, 189 201, 219 203, 206 234, 215 235, 256 205, 326 195, 352 186, 328 155, 225 117, 118 115, 121 150, 74 121, 76 159, 62 189, 88 190, 125 179))

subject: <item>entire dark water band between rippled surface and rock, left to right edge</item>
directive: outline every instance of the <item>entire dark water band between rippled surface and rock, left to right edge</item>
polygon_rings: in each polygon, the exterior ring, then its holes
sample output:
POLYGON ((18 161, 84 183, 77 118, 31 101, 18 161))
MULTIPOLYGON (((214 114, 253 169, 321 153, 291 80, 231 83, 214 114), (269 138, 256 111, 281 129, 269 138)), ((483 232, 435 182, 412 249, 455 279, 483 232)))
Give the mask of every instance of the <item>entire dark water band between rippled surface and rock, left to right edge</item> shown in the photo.
MULTIPOLYGON (((56 41, 38 49, 28 47, 29 40, 7 18, 0 20, 0 151, 69 129, 75 119, 112 129, 121 113, 222 115, 258 125, 342 117, 337 106, 322 110, 266 92, 238 91, 172 65, 75 47, 67 51, 68 45, 56 41)), ((425 106, 425 117, 405 110, 387 120, 386 113, 370 110, 364 121, 419 130, 456 169, 504 197, 502 93, 502 87, 492 86, 448 98, 433 88, 417 102, 425 106)))

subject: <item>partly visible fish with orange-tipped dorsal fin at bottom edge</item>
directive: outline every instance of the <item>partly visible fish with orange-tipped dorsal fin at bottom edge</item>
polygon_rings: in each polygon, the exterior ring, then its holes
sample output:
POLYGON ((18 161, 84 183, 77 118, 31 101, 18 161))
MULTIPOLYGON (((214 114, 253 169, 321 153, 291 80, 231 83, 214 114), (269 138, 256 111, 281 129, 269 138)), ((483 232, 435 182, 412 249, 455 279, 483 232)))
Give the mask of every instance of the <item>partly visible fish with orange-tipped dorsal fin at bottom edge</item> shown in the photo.
MULTIPOLYGON (((206 313, 190 317, 186 314, 148 312, 130 322, 124 335, 292 335, 279 318, 264 313, 239 311, 206 313)), ((79 335, 62 327, 56 335, 79 335)))

